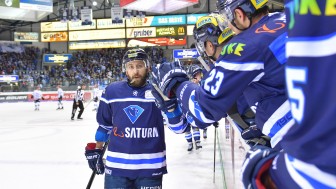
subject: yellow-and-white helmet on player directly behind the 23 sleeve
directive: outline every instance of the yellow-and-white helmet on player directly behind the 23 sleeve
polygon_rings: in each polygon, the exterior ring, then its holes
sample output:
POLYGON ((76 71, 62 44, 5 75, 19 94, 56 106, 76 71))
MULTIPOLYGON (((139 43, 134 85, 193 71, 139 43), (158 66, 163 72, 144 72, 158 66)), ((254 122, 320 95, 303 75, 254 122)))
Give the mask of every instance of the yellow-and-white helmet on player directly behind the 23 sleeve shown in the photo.
POLYGON ((225 17, 218 12, 203 16, 196 21, 194 27, 196 48, 202 55, 205 51, 205 42, 210 41, 214 46, 219 46, 231 39, 234 32, 228 27, 225 17))

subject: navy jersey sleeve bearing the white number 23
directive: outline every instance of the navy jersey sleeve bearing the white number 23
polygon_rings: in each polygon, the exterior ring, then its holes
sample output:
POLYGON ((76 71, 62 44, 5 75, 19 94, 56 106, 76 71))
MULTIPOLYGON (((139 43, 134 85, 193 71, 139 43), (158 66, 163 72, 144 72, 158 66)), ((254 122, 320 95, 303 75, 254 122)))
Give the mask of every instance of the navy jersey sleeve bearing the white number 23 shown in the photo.
POLYGON ((206 124, 225 117, 244 89, 263 76, 262 52, 255 45, 241 45, 243 50, 239 53, 231 52, 228 48, 232 47, 223 48, 219 61, 204 77, 202 87, 186 81, 176 91, 182 109, 206 124))

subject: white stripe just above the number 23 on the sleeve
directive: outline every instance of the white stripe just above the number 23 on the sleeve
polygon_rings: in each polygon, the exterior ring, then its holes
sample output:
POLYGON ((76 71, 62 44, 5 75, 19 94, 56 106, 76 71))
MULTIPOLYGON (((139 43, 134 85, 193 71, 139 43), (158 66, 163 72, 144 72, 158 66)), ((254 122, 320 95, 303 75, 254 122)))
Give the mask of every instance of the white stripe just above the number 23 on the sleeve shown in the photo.
POLYGON ((253 71, 253 70, 263 70, 263 62, 225 62, 220 61, 215 64, 216 66, 222 67, 226 70, 233 71, 253 71))

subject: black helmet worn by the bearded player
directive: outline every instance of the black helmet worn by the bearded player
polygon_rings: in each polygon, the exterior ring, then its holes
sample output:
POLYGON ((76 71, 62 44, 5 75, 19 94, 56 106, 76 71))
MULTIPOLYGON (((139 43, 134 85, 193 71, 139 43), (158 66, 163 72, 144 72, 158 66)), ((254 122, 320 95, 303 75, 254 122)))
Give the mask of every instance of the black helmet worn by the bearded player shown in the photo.
POLYGON ((143 49, 141 48, 130 49, 125 53, 123 57, 123 63, 122 63, 123 72, 126 72, 126 64, 133 60, 142 60, 145 63, 146 68, 150 68, 150 61, 148 55, 143 49))

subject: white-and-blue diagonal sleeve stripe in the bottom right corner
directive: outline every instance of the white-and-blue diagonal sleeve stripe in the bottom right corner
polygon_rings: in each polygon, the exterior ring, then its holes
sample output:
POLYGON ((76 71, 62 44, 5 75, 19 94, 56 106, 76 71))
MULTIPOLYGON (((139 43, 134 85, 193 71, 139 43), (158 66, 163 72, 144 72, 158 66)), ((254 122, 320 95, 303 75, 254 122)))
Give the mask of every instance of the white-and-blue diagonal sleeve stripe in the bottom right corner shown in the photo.
POLYGON ((318 167, 312 164, 305 163, 301 160, 293 158, 293 161, 289 160, 289 155, 285 154, 285 162, 289 174, 293 180, 301 187, 307 189, 314 189, 314 183, 325 185, 325 188, 334 188, 336 186, 336 176, 323 172, 318 167), (301 175, 301 173, 305 175, 301 175), (313 182, 309 182, 306 178, 311 179, 313 182))

